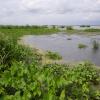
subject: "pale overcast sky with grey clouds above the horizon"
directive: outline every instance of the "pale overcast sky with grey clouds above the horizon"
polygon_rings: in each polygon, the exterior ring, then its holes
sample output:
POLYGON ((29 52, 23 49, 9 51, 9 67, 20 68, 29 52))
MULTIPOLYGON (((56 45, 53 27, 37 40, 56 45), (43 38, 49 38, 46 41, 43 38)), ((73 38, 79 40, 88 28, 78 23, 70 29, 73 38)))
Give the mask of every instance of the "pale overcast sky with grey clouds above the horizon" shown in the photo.
POLYGON ((100 25, 100 0, 0 0, 0 24, 100 25))

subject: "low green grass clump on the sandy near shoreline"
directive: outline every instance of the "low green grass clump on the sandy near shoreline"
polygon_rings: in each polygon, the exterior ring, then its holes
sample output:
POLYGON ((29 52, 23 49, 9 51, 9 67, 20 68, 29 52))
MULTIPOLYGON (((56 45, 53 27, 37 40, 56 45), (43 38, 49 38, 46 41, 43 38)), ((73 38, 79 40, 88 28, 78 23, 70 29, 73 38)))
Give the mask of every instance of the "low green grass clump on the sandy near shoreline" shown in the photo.
POLYGON ((52 60, 61 60, 62 57, 57 52, 47 51, 46 56, 52 60))

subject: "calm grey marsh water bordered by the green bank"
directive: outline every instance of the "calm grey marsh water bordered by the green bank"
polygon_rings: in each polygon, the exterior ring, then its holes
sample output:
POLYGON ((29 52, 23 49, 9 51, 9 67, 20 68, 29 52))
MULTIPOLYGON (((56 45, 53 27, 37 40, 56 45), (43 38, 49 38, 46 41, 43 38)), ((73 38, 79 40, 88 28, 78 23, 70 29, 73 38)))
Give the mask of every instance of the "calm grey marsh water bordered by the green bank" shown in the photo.
POLYGON ((100 44, 100 35, 66 35, 64 33, 52 35, 26 35, 22 38, 24 44, 44 51, 58 52, 64 61, 90 61, 100 66, 100 48, 93 49, 93 41, 100 44), (79 44, 87 45, 79 48, 79 44))

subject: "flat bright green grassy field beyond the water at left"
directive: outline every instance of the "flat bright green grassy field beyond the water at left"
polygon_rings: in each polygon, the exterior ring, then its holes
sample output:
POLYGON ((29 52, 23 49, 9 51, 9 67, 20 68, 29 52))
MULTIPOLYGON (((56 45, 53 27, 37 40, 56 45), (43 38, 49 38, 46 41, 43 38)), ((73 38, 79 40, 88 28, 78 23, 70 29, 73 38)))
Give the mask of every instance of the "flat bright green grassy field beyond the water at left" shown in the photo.
POLYGON ((23 35, 43 35, 59 32, 58 29, 48 29, 45 26, 0 26, 0 33, 4 33, 14 41, 23 35))

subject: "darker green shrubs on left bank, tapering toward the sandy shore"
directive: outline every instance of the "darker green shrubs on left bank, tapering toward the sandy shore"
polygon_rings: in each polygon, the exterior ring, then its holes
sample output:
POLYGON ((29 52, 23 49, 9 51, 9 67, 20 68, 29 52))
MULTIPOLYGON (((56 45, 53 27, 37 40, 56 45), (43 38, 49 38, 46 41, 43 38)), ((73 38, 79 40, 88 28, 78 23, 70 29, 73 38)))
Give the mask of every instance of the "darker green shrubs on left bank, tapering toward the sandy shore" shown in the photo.
MULTIPOLYGON (((0 35, 0 65, 11 66, 13 61, 22 61, 26 64, 41 60, 41 55, 31 49, 18 45, 5 35, 0 35)), ((1 68, 5 70, 5 68, 1 68)))

